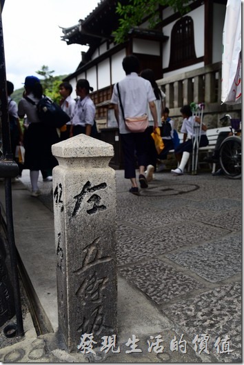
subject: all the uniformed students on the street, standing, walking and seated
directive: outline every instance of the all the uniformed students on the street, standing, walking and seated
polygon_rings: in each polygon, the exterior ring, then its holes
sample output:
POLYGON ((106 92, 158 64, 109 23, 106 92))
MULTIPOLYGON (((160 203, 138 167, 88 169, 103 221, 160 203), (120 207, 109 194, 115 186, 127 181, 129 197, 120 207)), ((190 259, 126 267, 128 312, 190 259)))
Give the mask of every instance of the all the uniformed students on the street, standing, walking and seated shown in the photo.
MULTIPOLYGON (((171 170, 174 175, 182 175, 187 163, 187 159, 192 152, 192 137, 194 137, 194 123, 200 124, 198 117, 192 117, 190 106, 183 106, 181 114, 183 116, 183 143, 179 144, 179 137, 174 128, 174 121, 169 117, 170 110, 165 107, 165 94, 159 89, 154 72, 150 69, 143 70, 139 74, 139 59, 134 55, 126 56, 122 62, 125 78, 114 85, 111 103, 114 104, 114 115, 119 126, 121 144, 125 164, 125 179, 130 179, 130 193, 139 195, 139 187, 136 182, 136 161, 139 166, 139 184, 141 188, 148 188, 148 182, 152 179, 153 172, 156 171, 157 161, 166 159, 169 150, 174 149, 179 166, 171 170), (120 90, 120 95, 118 90, 120 90), (123 105, 125 108, 121 108, 123 105), (127 117, 148 115, 148 128, 143 132, 130 132, 125 125, 127 117), (161 129, 163 139, 163 151, 158 154, 155 148, 152 133, 156 128, 161 129), (165 128, 167 127, 167 128, 165 128), (187 140, 187 136, 190 139, 187 140), (145 171, 146 168, 146 171, 145 171)), ((9 81, 8 81, 9 83, 9 81)), ((72 86, 68 82, 63 82, 59 86, 62 97, 61 108, 70 116, 70 121, 63 126, 59 132, 57 128, 41 123, 37 108, 28 99, 38 103, 43 97, 43 88, 40 80, 34 76, 26 77, 25 92, 19 106, 14 106, 14 101, 10 106, 14 109, 15 117, 23 118, 27 116, 28 128, 21 133, 19 121, 17 128, 20 131, 19 141, 15 141, 12 146, 21 144, 26 150, 24 168, 30 169, 30 181, 32 185, 32 197, 38 197, 41 192, 38 188, 39 171, 45 174, 52 171, 57 166, 57 159, 52 155, 51 146, 57 142, 84 133, 90 136, 94 125, 95 106, 90 98, 90 87, 88 80, 79 79, 77 81, 77 100, 72 99, 72 86), (28 97, 26 99, 26 97, 28 97)), ((12 89, 13 91, 13 86, 12 89)), ((10 99, 10 95, 9 95, 10 99)), ((16 103, 15 103, 16 104, 16 103)), ((207 146, 207 127, 202 124, 201 139, 199 146, 207 146)), ((52 173, 51 173, 52 175, 52 173)), ((48 176, 43 180, 52 180, 48 176)))

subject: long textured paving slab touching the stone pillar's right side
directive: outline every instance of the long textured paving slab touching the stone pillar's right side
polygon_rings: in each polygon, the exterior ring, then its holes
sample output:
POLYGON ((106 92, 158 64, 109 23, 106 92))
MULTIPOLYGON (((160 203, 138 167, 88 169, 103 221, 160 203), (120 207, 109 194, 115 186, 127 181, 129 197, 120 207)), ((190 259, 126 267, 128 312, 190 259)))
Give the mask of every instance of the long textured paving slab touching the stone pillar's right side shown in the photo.
POLYGON ((117 259, 119 265, 147 259, 148 257, 158 257, 165 253, 170 253, 178 248, 201 244, 209 239, 223 237, 229 231, 206 226, 201 222, 188 222, 187 225, 171 224, 167 226, 155 224, 155 218, 150 215, 136 219, 137 226, 119 226, 116 230, 117 239, 117 259), (139 232, 139 228, 148 228, 149 232, 139 232), (155 227, 155 228, 152 228, 155 227), (158 228, 158 229, 157 229, 158 228))

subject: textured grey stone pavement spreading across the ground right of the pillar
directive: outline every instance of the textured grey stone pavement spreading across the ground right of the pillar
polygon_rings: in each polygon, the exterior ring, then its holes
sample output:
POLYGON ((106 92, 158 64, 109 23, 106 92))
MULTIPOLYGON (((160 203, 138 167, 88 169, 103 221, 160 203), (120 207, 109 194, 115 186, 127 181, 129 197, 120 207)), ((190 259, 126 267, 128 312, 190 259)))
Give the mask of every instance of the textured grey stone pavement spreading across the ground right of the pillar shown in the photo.
MULTIPOLYGON (((0 349, 1 362, 241 362, 241 180, 155 177, 138 197, 116 171, 116 239, 119 277, 165 319, 162 331, 151 328, 139 337, 143 353, 127 355, 126 341, 121 353, 84 356, 66 353, 57 334, 31 337, 0 349), (149 353, 157 335, 164 351, 149 353)), ((41 184, 39 200, 52 210, 50 188, 41 184)))

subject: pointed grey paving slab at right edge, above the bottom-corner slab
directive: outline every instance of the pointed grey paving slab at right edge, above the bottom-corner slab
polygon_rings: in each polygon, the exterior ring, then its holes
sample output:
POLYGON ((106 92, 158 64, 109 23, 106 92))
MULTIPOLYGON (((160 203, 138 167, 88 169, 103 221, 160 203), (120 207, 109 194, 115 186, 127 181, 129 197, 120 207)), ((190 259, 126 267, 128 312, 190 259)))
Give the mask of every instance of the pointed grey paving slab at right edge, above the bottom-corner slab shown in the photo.
POLYGON ((229 235, 166 257, 208 282, 215 283, 241 273, 240 253, 241 237, 229 235))

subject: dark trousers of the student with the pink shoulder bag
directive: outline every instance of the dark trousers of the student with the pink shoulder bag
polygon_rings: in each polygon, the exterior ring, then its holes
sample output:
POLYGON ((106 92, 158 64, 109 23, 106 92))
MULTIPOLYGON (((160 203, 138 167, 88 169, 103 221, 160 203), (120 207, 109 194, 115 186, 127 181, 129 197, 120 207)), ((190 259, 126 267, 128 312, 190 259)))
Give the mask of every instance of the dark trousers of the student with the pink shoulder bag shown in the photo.
POLYGON ((121 134, 120 137, 125 164, 125 179, 132 179, 132 177, 136 177, 136 158, 139 166, 146 166, 148 163, 148 128, 143 133, 126 133, 121 134))

